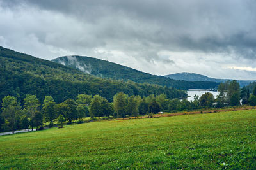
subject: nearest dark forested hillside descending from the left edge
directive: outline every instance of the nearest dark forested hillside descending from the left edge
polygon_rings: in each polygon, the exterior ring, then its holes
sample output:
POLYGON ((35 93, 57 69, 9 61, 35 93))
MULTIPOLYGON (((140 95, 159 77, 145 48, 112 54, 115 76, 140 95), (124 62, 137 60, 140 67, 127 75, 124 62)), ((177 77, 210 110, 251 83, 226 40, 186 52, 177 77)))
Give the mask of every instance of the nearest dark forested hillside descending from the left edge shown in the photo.
POLYGON ((54 101, 61 103, 68 98, 75 99, 77 94, 82 93, 99 94, 112 101, 113 96, 121 91, 129 96, 162 93, 169 98, 186 96, 184 91, 174 88, 97 78, 0 46, 0 101, 8 95, 21 101, 26 94, 35 94, 41 102, 44 96, 51 95, 54 101))

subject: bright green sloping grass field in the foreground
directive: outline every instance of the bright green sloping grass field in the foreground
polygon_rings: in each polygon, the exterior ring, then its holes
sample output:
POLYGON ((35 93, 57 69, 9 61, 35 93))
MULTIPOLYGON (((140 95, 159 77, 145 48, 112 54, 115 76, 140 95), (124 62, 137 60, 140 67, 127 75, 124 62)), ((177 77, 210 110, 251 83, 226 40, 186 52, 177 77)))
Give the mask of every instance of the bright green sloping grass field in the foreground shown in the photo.
POLYGON ((256 110, 0 136, 1 169, 256 169, 256 110))

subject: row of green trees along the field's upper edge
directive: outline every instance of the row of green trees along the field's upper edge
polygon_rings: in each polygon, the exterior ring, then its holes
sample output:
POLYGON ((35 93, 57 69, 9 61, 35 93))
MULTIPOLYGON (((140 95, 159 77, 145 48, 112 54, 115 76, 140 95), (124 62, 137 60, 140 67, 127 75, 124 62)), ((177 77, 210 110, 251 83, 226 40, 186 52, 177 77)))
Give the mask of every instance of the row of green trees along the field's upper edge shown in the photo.
POLYGON ((246 87, 240 89, 237 81, 227 81, 219 85, 218 92, 216 99, 207 92, 200 97, 195 95, 194 101, 170 99, 166 94, 141 97, 118 92, 113 96, 111 103, 102 96, 88 94, 79 94, 76 99, 66 99, 62 103, 56 103, 52 96, 45 96, 43 103, 40 103, 35 95, 27 94, 22 104, 17 97, 5 96, 1 103, 0 131, 14 132, 29 127, 40 129, 44 122, 49 122, 49 126, 52 127, 54 120, 62 124, 64 121, 71 123, 84 117, 124 118, 159 111, 191 111, 213 106, 237 106, 240 105, 240 100, 242 104, 256 105, 256 86, 250 95, 246 87))

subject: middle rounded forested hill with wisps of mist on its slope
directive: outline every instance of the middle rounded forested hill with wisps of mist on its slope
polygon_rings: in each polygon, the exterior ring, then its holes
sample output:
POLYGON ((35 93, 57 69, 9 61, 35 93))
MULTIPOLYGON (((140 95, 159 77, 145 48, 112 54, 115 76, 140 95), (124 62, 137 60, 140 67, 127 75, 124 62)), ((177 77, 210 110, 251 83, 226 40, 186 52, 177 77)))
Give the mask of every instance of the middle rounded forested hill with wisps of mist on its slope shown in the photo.
POLYGON ((218 87, 219 83, 205 81, 182 81, 172 80, 164 76, 156 76, 143 73, 130 67, 108 62, 106 60, 95 59, 93 57, 82 56, 65 56, 53 59, 68 67, 78 69, 84 73, 92 74, 102 78, 113 78, 115 80, 134 81, 136 83, 150 83, 163 85, 166 87, 174 87, 176 89, 212 89, 218 87))

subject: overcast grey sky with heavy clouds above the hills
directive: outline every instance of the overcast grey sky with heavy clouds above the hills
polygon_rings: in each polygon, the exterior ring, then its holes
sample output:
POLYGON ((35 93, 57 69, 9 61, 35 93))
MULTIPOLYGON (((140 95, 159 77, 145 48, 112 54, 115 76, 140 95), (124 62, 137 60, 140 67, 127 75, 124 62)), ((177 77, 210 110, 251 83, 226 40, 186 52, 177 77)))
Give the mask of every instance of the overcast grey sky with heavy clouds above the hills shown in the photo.
POLYGON ((0 46, 151 74, 256 80, 256 1, 0 0, 0 46))

